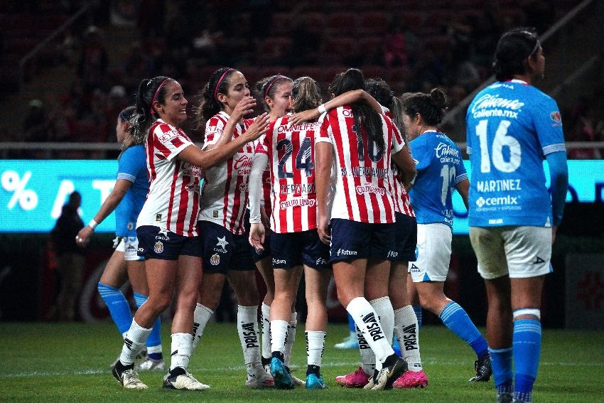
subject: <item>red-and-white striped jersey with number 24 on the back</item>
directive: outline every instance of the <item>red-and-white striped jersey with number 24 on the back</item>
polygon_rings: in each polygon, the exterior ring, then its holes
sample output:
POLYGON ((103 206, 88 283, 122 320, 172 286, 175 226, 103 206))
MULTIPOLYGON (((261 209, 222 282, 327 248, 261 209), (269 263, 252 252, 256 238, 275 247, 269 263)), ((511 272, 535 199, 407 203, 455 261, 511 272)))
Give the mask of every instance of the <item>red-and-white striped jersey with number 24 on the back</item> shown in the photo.
POLYGON ((271 230, 301 232, 317 227, 316 122, 291 126, 289 115, 272 122, 261 144, 271 168, 271 230))

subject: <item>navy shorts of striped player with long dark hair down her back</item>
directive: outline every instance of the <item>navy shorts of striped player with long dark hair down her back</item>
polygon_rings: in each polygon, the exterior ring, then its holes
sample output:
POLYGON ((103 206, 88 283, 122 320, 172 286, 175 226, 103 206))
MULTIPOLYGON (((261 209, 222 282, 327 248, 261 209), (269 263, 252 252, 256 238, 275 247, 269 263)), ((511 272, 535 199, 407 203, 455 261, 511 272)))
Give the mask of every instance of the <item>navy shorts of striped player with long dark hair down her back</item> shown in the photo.
POLYGON ((392 260, 394 224, 332 218, 330 262, 347 259, 392 260))

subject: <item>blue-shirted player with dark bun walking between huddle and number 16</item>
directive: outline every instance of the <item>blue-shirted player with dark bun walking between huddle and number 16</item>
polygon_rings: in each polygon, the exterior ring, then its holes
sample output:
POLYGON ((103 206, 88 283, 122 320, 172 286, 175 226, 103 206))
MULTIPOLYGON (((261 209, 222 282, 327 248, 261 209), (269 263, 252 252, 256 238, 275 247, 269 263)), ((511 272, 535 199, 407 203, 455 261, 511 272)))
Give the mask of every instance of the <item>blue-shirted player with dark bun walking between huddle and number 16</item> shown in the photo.
POLYGON ((445 115, 445 95, 435 88, 403 100, 403 119, 417 163, 417 177, 409 191, 417 220, 417 259, 411 266, 419 302, 441 318, 453 333, 476 353, 476 375, 470 381, 487 381, 491 375, 488 345, 461 306, 444 294, 453 227, 453 189, 468 208, 468 174, 461 151, 436 126, 445 115))

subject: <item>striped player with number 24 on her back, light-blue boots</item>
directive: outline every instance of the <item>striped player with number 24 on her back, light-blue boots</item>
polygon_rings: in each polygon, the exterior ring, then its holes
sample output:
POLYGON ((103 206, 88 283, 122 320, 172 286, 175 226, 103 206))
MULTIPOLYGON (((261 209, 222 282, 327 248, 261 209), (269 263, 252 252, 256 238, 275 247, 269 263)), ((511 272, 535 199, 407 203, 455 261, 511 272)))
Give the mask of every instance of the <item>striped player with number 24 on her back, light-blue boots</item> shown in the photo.
MULTIPOLYGON (((293 110, 318 107, 318 85, 311 77, 293 82, 293 110)), ((321 358, 327 329, 327 288, 331 277, 329 249, 320 242, 316 231, 316 192, 313 144, 316 122, 293 125, 289 116, 271 123, 261 144, 267 157, 254 161, 250 182, 252 229, 249 240, 263 249, 264 226, 259 222, 260 171, 270 161, 271 230, 275 296, 271 305, 271 375, 275 387, 293 389, 295 384, 287 368, 286 340, 291 337, 291 307, 296 301, 302 268, 306 281, 307 389, 325 389, 320 375, 321 358)))

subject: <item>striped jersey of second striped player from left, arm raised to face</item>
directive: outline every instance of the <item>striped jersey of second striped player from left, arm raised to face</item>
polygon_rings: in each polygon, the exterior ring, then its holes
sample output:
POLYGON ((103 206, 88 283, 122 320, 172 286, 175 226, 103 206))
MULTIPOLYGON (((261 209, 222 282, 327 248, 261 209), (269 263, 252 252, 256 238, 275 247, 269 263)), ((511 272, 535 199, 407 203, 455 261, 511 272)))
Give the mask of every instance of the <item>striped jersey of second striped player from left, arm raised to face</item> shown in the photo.
MULTIPOLYGON (((204 148, 216 144, 228 120, 229 115, 221 111, 206 122, 204 148)), ((252 122, 252 119, 244 119, 243 124, 237 124, 232 139, 241 136, 252 122)), ((227 161, 204 170, 205 188, 199 220, 215 222, 236 235, 245 232, 249 171, 257 146, 258 141, 249 142, 227 161)))

